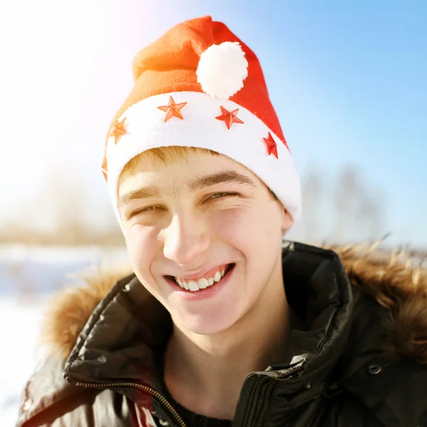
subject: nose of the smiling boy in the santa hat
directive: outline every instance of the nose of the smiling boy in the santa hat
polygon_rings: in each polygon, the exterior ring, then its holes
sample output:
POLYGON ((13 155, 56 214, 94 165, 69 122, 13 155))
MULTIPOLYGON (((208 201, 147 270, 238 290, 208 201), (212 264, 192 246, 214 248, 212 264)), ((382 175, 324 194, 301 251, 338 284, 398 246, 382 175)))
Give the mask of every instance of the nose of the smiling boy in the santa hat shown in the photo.
POLYGON ((164 229, 163 253, 175 263, 191 264, 209 248, 209 244, 206 224, 195 216, 175 215, 164 229))

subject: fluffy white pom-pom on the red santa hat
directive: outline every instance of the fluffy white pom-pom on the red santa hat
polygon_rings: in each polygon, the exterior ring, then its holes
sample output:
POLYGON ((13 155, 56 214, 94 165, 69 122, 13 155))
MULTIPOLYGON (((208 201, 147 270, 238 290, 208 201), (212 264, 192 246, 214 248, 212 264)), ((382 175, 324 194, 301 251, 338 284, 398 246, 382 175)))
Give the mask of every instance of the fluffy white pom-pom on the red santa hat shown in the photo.
POLYGON ((248 60, 237 41, 225 41, 201 54, 196 74, 204 93, 228 100, 243 88, 248 60))

